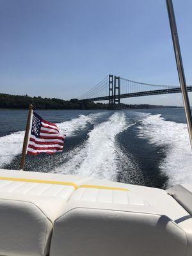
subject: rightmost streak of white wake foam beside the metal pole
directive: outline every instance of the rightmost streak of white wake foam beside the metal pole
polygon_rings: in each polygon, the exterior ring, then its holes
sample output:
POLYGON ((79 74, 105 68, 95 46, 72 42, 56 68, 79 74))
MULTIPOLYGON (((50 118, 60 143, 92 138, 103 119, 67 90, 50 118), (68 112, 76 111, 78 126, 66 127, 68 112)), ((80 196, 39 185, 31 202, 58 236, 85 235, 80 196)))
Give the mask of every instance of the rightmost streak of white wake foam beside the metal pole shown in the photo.
POLYGON ((150 143, 164 146, 166 159, 161 170, 170 177, 170 186, 180 183, 192 183, 192 157, 186 124, 164 120, 161 115, 149 115, 143 121, 140 136, 148 138, 150 143))

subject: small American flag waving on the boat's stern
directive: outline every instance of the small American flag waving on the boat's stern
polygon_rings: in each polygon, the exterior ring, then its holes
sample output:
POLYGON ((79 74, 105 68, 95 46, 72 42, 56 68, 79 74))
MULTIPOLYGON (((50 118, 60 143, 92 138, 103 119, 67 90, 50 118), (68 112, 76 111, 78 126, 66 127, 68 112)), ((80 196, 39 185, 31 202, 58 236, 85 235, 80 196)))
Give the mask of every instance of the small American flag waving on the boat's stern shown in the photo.
POLYGON ((53 154, 63 151, 65 135, 61 135, 56 124, 47 122, 33 112, 31 135, 27 154, 38 155, 42 152, 53 154))

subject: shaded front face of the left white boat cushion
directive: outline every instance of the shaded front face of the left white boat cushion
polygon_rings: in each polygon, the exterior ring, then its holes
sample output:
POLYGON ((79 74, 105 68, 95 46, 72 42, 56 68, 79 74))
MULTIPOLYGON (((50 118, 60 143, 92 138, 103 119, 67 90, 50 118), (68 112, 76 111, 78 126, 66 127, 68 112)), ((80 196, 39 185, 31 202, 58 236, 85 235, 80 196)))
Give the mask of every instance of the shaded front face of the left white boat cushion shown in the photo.
POLYGON ((0 199, 0 255, 47 255, 51 232, 51 221, 35 204, 0 199))

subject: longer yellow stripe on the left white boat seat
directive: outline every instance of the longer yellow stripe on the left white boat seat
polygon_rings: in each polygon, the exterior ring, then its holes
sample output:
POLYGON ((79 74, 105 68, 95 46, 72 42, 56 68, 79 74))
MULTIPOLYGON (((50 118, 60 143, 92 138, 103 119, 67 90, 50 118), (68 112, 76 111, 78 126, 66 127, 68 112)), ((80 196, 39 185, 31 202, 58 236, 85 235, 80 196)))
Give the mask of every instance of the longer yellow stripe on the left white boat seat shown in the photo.
POLYGON ((65 182, 65 181, 54 181, 54 180, 35 180, 35 179, 22 179, 22 178, 12 178, 12 177, 0 177, 0 180, 10 180, 17 182, 31 182, 31 183, 43 183, 43 184, 55 184, 55 185, 65 185, 72 186, 74 189, 77 189, 77 184, 73 182, 65 182))

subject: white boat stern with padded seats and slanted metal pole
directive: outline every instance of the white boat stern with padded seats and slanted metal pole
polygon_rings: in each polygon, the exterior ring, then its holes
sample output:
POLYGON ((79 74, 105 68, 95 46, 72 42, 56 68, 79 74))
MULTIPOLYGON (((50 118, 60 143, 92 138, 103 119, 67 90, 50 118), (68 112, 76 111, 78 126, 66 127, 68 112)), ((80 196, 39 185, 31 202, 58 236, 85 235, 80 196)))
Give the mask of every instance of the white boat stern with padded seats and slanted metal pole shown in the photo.
MULTIPOLYGON (((192 145, 172 0, 166 0, 192 145)), ((192 184, 167 190, 0 170, 0 256, 191 256, 192 184)))

